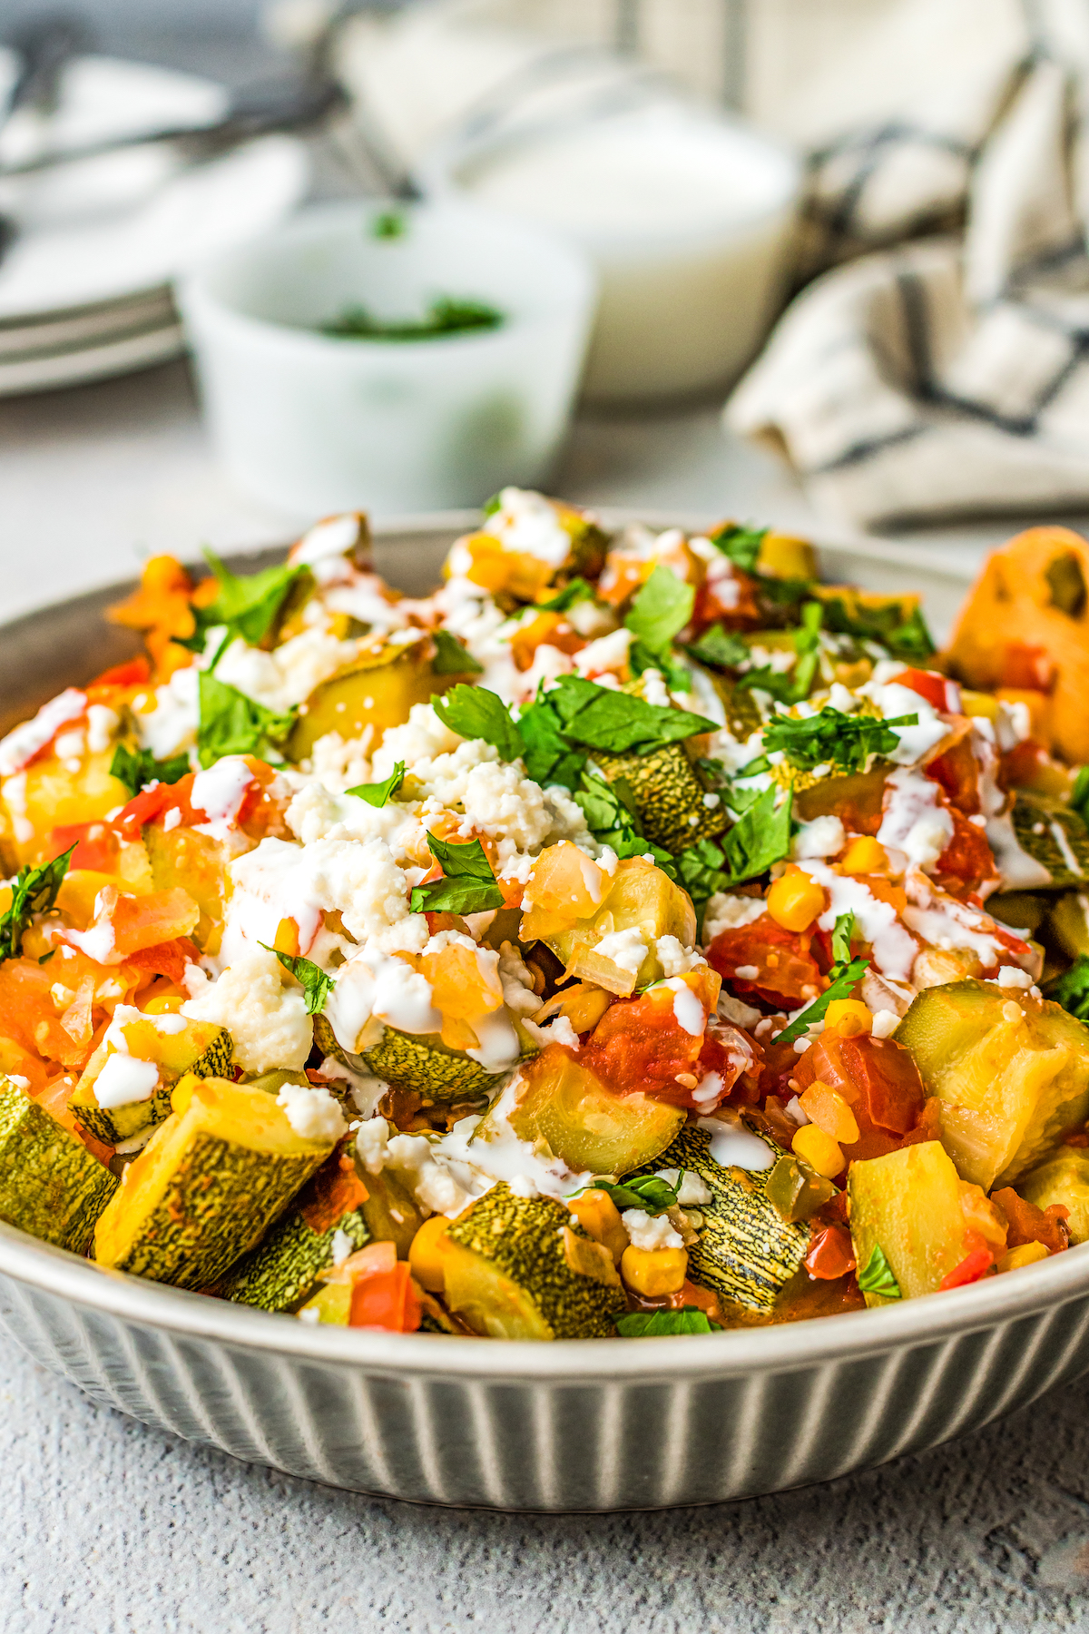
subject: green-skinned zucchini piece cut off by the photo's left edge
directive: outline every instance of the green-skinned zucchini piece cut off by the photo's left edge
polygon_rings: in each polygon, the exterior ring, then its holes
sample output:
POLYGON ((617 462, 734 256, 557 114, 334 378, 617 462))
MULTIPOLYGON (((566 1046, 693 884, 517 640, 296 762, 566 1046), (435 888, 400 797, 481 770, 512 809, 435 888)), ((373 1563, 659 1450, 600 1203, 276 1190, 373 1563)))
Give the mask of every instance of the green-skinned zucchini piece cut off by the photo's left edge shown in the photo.
POLYGON ((118 1180, 10 1078, 0 1078, 0 1219, 87 1253, 118 1180))

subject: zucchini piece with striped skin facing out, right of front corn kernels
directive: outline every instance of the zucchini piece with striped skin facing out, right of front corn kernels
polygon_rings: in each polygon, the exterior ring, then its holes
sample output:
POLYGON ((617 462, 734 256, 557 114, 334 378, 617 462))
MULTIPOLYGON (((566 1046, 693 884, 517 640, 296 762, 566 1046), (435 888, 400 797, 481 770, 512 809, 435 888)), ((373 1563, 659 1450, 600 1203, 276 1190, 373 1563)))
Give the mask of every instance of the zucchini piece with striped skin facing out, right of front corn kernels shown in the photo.
MULTIPOLYGON (((766 1139, 761 1136, 761 1139, 766 1139)), ((780 1155, 774 1141, 767 1145, 780 1155)), ((771 1170, 723 1168, 710 1155, 710 1134, 696 1124, 682 1129, 658 1168, 691 1168, 710 1188, 713 1203, 700 1203, 704 1227, 689 1248, 689 1276, 746 1310, 771 1310, 810 1247, 807 1226, 789 1226, 767 1201, 771 1170)), ((645 1173, 653 1173, 648 1167, 645 1173)))

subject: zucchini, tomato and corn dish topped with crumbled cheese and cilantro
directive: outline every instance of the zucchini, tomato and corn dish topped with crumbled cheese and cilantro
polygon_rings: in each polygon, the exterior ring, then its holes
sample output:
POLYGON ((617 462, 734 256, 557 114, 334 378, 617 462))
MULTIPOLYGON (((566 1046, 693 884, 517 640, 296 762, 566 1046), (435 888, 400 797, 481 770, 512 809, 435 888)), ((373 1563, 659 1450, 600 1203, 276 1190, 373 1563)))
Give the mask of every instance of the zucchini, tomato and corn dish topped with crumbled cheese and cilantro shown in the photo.
POLYGON ((0 1219, 310 1324, 692 1343, 1089 1237, 1084 541, 940 659, 802 541, 516 490, 423 600, 359 516, 212 565, 0 742, 0 1219))

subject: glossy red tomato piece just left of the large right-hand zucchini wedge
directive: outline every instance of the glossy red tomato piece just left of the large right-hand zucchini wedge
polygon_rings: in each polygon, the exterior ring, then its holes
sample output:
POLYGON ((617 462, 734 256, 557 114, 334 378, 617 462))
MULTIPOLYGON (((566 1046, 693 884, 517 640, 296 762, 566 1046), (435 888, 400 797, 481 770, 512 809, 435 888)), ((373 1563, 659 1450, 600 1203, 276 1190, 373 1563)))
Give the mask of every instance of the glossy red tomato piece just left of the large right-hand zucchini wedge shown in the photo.
POLYGON ((849 1103, 859 1124, 859 1139, 844 1145, 849 1162, 883 1157, 903 1145, 926 1098, 911 1052, 891 1038, 867 1033, 856 1038, 823 1033, 798 1059, 793 1078, 798 1092, 820 1080, 849 1103))

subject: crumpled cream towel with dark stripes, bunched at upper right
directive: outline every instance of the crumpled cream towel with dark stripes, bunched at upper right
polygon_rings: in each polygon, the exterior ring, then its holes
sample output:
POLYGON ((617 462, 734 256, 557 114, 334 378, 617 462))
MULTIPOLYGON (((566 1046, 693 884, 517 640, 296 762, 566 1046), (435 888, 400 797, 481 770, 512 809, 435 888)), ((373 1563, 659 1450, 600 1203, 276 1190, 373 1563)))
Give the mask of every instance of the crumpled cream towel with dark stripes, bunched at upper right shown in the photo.
POLYGON ((1089 503, 1087 85, 1037 38, 958 129, 896 119, 815 155, 807 253, 831 270, 725 422, 785 453, 821 510, 1089 503))

